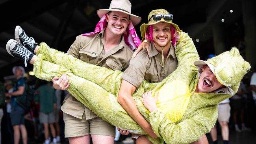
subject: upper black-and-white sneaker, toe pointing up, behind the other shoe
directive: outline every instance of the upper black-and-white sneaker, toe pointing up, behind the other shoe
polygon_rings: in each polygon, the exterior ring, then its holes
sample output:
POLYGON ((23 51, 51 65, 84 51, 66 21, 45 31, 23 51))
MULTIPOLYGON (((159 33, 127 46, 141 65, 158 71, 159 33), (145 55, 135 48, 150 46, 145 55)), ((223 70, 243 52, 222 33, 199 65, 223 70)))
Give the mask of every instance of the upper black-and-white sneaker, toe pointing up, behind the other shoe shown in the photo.
POLYGON ((25 48, 30 50, 30 52, 34 53, 37 43, 35 42, 33 37, 28 37, 28 35, 26 35, 25 31, 22 30, 22 28, 20 26, 16 26, 16 28, 15 28, 15 39, 20 44, 25 46, 25 48))

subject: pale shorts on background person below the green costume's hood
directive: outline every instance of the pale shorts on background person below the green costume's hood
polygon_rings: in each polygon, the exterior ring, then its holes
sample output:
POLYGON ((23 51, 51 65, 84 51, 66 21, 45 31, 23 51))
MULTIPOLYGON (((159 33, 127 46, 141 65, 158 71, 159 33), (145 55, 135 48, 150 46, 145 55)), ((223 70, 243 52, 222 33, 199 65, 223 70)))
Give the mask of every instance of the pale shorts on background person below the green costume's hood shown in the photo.
POLYGON ((218 122, 229 122, 230 105, 229 103, 218 104, 218 122))

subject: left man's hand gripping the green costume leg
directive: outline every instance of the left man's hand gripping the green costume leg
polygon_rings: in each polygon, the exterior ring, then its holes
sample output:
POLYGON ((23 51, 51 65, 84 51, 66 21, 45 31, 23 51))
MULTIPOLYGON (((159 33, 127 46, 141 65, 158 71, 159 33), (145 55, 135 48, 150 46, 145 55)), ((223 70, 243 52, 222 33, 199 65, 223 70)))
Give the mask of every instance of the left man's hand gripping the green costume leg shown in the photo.
POLYGON ((60 90, 66 90, 70 85, 67 74, 63 74, 60 78, 54 77, 52 79, 52 83, 53 83, 52 85, 54 89, 60 89, 60 90))

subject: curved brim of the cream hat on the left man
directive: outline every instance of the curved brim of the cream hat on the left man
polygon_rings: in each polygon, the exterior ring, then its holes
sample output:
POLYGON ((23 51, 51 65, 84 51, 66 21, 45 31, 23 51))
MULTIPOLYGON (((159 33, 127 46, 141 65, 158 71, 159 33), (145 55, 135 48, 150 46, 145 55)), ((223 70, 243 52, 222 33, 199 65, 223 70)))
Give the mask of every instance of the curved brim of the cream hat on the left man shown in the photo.
POLYGON ((138 17, 137 15, 133 15, 133 14, 128 13, 126 11, 122 11, 121 9, 99 9, 97 11, 98 17, 102 18, 109 11, 119 11, 119 12, 126 13, 126 14, 130 15, 131 16, 130 18, 131 18, 132 24, 134 26, 136 26, 137 24, 139 24, 139 22, 141 22, 141 17, 138 17))

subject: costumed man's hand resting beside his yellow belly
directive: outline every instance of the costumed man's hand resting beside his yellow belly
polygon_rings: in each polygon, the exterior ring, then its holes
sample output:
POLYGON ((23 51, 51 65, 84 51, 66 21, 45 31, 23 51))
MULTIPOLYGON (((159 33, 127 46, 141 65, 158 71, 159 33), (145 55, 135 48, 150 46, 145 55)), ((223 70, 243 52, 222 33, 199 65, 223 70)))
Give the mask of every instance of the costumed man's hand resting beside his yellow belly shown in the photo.
POLYGON ((152 113, 153 111, 156 111, 156 109, 158 109, 156 103, 157 103, 157 96, 158 96, 158 92, 155 93, 155 96, 152 96, 152 92, 145 92, 142 95, 142 102, 145 105, 145 107, 148 109, 148 111, 150 111, 150 113, 152 113))

